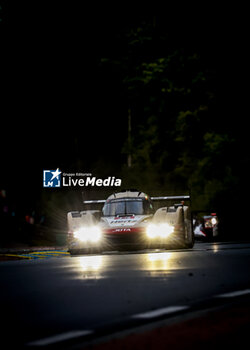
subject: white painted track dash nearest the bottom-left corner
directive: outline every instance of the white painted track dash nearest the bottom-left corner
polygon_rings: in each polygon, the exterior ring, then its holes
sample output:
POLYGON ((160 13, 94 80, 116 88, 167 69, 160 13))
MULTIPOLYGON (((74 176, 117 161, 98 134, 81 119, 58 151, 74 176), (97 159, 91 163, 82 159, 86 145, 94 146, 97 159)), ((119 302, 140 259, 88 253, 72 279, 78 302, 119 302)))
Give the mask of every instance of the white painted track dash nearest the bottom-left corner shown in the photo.
POLYGON ((46 346, 46 345, 58 343, 60 341, 82 337, 84 335, 88 335, 91 333, 93 333, 93 331, 91 330, 75 330, 75 331, 52 335, 51 337, 47 337, 39 340, 34 340, 28 343, 27 345, 28 346, 46 346))

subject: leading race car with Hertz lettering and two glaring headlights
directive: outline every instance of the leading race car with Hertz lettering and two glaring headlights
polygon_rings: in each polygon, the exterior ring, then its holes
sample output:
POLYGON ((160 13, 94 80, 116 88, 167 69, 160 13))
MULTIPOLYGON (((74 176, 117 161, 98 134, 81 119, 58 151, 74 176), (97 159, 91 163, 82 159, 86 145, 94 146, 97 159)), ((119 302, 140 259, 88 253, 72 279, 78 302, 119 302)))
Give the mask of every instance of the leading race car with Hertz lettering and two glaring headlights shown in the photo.
POLYGON ((150 198, 138 190, 113 193, 107 200, 85 200, 102 204, 102 210, 67 214, 68 250, 71 254, 147 248, 192 248, 191 212, 183 200, 189 196, 150 198), (154 201, 181 200, 179 204, 154 210, 154 201))

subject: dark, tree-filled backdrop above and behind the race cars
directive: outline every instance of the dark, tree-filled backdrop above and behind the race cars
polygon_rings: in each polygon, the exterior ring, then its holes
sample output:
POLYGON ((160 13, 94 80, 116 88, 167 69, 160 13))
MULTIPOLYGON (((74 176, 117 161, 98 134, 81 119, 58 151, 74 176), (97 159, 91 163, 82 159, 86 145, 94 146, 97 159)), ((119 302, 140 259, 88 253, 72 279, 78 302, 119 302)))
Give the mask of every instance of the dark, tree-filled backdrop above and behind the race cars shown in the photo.
POLYGON ((42 170, 56 168, 150 195, 191 193, 225 237, 247 236, 244 20, 212 6, 158 10, 2 2, 4 236, 22 239, 30 217, 32 235, 65 230, 81 188, 44 189, 42 170))

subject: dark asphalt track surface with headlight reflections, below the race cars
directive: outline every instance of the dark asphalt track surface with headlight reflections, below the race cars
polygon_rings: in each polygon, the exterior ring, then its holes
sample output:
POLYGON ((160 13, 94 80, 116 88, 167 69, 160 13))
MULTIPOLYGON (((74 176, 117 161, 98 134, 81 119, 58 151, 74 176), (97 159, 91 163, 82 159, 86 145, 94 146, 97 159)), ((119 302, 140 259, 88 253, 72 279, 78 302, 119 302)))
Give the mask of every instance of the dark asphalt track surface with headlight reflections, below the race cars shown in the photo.
MULTIPOLYGON (((250 243, 196 243, 186 250, 73 257, 66 252, 44 255, 0 262, 4 349, 92 348, 131 330, 151 332, 155 339, 152 329, 163 326, 162 322, 174 319, 182 324, 190 314, 201 317, 207 309, 217 310, 217 319, 222 319, 220 308, 235 300, 241 302, 242 312, 250 310, 250 243)), ((116 344, 115 348, 121 348, 116 344)))

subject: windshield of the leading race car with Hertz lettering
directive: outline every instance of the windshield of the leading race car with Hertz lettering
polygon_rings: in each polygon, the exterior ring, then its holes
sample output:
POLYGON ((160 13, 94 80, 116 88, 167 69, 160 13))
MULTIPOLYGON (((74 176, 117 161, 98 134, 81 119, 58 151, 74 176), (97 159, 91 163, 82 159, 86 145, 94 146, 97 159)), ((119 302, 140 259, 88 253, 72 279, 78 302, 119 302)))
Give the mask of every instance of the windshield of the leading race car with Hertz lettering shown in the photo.
POLYGON ((152 204, 143 198, 122 198, 106 202, 103 208, 103 215, 145 215, 150 214, 152 209, 152 204))

